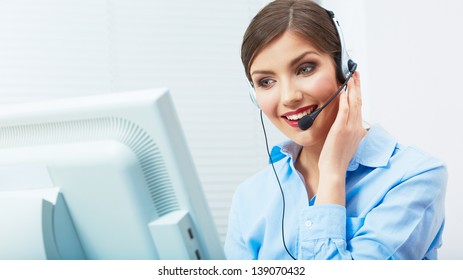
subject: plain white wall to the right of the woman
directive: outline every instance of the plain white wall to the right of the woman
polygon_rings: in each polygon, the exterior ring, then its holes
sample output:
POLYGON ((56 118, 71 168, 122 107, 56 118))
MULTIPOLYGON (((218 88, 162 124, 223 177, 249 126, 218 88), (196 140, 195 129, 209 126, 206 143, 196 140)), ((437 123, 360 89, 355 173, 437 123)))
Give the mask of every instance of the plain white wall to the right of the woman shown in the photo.
POLYGON ((440 258, 463 259, 463 2, 323 2, 337 11, 348 44, 366 62, 359 69, 362 83, 367 83, 367 120, 447 163, 447 220, 440 258), (356 46, 358 42, 364 45, 356 46))

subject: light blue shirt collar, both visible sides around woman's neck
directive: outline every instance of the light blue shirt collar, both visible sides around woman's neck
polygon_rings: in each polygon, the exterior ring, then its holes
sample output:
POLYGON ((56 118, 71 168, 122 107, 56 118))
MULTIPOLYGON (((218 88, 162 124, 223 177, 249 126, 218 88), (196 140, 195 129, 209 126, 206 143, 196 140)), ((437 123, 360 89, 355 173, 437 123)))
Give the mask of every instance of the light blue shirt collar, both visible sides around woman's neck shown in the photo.
MULTIPOLYGON (((374 125, 360 141, 357 152, 349 163, 347 171, 356 170, 359 165, 368 167, 384 167, 389 163, 397 141, 381 126, 374 125)), ((275 163, 285 157, 296 159, 301 146, 293 141, 285 141, 273 147, 270 156, 275 163)), ((269 160, 270 161, 270 160, 269 160)))

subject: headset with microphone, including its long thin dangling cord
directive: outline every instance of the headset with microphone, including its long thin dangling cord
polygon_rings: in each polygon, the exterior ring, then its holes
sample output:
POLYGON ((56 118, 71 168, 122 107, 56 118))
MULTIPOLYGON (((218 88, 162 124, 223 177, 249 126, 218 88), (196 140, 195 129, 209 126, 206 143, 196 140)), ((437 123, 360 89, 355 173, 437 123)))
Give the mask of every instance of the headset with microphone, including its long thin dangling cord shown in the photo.
MULTIPOLYGON (((328 99, 327 102, 325 102, 325 104, 323 104, 323 106, 321 106, 320 108, 318 108, 317 110, 315 110, 311 114, 305 115, 304 117, 302 117, 299 120, 298 126, 299 126, 299 128, 301 130, 309 129, 312 126, 312 124, 315 121, 315 118, 318 116, 318 114, 320 114, 320 112, 328 104, 330 104, 331 101, 333 101, 344 88, 347 88, 347 82, 349 82, 349 80, 352 77, 353 73, 357 69, 357 63, 355 63, 350 58, 349 54, 347 53, 346 45, 344 43, 344 36, 342 34, 341 26, 340 26, 338 20, 336 19, 335 15, 334 15, 334 13, 332 11, 326 10, 326 12, 331 17, 331 20, 333 21, 334 26, 336 27, 336 31, 338 33, 339 41, 340 41, 340 44, 341 44, 340 64, 337 65, 337 70, 336 71, 338 71, 338 73, 341 74, 341 76, 345 80, 344 80, 344 83, 341 85, 341 87, 330 97, 330 99, 328 99)), ((273 159, 272 159, 272 157, 270 155, 269 144, 268 144, 268 139, 267 139, 267 133, 265 131, 265 125, 264 125, 264 120, 263 120, 263 116, 262 116, 262 110, 260 110, 259 103, 257 102, 256 92, 255 92, 255 89, 254 89, 254 86, 253 86, 252 82, 250 82, 249 96, 251 98, 251 101, 254 103, 254 105, 260 111, 260 120, 261 120, 262 130, 263 130, 264 137, 265 137, 265 146, 267 148, 267 155, 269 157, 269 160, 270 160, 270 163, 271 163, 271 166, 272 166, 272 169, 273 169, 273 173, 275 174, 275 178, 277 180, 278 186, 280 187, 281 197, 282 197, 282 200, 283 200, 283 209, 282 209, 282 218, 281 218, 281 234, 282 234, 283 246, 284 246, 286 252, 288 253, 288 255, 293 260, 296 260, 296 258, 291 254, 288 247, 286 246, 285 231, 284 231, 285 208, 286 208, 285 195, 284 195, 284 192, 283 192, 283 188, 281 187, 281 182, 280 182, 280 179, 279 179, 278 174, 276 172, 273 159)))

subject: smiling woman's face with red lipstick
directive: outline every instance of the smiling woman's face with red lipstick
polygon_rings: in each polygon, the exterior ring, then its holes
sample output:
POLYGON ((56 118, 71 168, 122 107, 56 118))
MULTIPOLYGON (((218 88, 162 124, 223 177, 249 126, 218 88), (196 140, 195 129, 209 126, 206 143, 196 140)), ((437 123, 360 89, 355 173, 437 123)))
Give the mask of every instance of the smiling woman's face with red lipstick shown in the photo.
POLYGON ((340 86, 329 54, 287 31, 256 55, 250 73, 260 108, 281 132, 304 147, 323 145, 338 112, 338 98, 308 130, 301 130, 297 123, 320 108, 340 86))

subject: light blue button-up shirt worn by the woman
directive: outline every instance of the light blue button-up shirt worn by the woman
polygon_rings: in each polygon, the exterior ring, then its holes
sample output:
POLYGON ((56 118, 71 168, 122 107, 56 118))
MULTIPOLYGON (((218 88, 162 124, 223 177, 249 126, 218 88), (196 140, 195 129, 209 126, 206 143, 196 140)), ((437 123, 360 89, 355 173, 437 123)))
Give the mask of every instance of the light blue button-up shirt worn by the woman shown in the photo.
MULTIPOLYGON (((362 139, 346 174, 346 206, 314 205, 294 168, 301 147, 272 149, 285 197, 284 237, 296 259, 437 259, 447 169, 379 126, 362 139)), ((235 192, 228 259, 291 259, 282 241, 283 200, 272 167, 235 192)))

